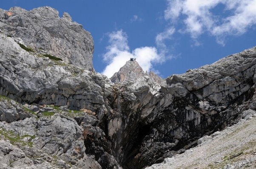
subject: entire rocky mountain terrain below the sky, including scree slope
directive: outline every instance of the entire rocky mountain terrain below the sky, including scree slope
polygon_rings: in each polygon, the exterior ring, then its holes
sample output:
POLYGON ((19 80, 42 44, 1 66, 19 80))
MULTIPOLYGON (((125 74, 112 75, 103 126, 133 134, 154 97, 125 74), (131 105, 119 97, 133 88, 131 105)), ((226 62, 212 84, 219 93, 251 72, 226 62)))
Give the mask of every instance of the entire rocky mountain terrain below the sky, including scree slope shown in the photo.
POLYGON ((0 9, 3 169, 254 167, 256 47, 165 79, 93 51, 67 13, 0 9))

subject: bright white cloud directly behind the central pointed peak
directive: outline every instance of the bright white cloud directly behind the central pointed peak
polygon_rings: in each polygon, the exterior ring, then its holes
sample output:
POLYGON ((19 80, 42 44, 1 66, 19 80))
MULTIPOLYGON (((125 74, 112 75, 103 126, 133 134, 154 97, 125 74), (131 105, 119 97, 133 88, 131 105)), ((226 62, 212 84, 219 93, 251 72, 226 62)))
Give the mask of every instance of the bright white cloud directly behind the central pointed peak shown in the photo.
POLYGON ((122 30, 108 33, 109 46, 106 47, 107 52, 103 54, 103 60, 108 62, 101 74, 111 78, 115 72, 125 65, 130 58, 136 58, 136 61, 144 71, 150 71, 153 63, 161 63, 165 60, 157 53, 155 47, 139 47, 130 52, 128 47, 127 35, 122 30))

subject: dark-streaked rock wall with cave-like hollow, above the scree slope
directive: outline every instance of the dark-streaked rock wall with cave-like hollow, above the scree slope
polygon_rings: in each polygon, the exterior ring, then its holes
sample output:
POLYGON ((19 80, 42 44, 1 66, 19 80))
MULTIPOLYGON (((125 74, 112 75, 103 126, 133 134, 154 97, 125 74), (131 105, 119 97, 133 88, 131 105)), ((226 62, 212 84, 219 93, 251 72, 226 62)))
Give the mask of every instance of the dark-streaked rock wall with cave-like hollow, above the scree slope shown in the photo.
POLYGON ((123 168, 139 169, 197 144, 242 118, 255 100, 256 48, 171 75, 161 85, 147 76, 116 84, 108 135, 123 168), (120 138, 120 136, 122 136, 120 138))

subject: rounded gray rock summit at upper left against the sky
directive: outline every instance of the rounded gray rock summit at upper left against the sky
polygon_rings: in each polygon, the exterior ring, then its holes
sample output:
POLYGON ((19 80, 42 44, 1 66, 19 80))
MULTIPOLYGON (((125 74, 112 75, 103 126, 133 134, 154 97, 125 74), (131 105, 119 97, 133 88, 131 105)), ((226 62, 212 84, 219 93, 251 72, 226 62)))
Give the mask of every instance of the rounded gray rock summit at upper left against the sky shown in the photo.
POLYGON ((32 48, 42 48, 67 63, 94 71, 94 42, 91 33, 72 22, 70 15, 51 7, 26 11, 20 7, 0 9, 0 29, 6 35, 23 39, 32 48))

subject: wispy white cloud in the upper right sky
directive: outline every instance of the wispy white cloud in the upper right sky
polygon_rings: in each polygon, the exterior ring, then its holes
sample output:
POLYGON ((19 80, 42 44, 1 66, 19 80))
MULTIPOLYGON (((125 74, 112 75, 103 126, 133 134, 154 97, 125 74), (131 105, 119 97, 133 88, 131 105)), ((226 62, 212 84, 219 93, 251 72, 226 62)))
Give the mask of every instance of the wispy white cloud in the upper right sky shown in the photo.
POLYGON ((225 36, 242 35, 256 24, 256 0, 168 0, 165 19, 176 23, 180 17, 185 24, 183 32, 190 33, 193 39, 208 32, 224 45, 225 36), (230 15, 213 14, 211 10, 217 5, 225 6, 222 12, 230 15))

